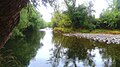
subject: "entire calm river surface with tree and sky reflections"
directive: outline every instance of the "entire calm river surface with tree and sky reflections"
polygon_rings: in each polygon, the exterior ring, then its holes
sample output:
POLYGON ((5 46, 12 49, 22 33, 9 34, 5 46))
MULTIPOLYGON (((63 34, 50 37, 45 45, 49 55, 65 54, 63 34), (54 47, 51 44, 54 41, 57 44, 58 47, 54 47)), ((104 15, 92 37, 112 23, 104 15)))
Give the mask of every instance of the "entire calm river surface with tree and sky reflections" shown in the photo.
POLYGON ((65 37, 46 29, 9 40, 0 50, 0 67, 120 67, 120 44, 65 37))

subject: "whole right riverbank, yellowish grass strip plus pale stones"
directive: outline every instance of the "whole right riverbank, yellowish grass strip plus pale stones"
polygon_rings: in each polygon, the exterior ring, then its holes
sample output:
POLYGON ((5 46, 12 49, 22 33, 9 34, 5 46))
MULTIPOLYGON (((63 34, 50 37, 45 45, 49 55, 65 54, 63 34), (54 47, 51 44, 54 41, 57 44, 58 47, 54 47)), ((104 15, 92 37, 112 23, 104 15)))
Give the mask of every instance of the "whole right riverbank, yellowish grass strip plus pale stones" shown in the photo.
POLYGON ((107 44, 120 44, 120 30, 95 29, 90 31, 86 29, 54 28, 54 32, 62 33, 64 36, 83 37, 107 44))

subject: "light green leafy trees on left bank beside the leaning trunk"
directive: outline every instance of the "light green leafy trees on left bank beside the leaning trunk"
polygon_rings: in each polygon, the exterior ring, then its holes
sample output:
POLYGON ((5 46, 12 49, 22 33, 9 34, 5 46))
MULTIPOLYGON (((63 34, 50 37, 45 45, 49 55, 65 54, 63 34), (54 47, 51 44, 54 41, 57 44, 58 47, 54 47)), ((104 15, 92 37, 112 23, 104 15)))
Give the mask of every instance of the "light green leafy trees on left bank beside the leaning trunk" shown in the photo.
POLYGON ((12 32, 12 37, 24 36, 23 32, 26 30, 38 30, 45 27, 42 15, 31 4, 21 10, 19 22, 12 32))

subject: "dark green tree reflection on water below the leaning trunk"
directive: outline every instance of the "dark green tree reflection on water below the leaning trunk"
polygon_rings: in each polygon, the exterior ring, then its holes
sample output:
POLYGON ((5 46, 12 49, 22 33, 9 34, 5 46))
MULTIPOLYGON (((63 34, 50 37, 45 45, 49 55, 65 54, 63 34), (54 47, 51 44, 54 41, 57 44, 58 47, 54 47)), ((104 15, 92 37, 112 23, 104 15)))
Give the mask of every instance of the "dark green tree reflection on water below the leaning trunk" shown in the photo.
POLYGON ((44 32, 27 33, 26 38, 11 39, 0 50, 0 67, 27 67, 40 48, 40 38, 44 36, 44 32))

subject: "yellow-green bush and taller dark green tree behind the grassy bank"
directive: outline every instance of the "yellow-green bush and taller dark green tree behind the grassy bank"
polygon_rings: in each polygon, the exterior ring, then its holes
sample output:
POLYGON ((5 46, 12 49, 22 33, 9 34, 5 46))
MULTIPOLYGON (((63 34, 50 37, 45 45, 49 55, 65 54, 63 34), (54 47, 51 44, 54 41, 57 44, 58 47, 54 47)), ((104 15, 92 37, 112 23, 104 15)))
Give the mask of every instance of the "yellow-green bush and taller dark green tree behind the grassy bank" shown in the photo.
POLYGON ((84 4, 75 6, 74 0, 64 0, 67 10, 60 12, 55 11, 52 22, 54 26, 62 28, 81 28, 81 29, 94 29, 96 26, 95 17, 92 15, 92 5, 85 6, 84 4))

